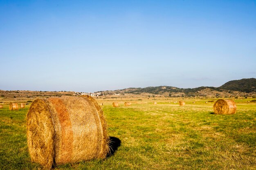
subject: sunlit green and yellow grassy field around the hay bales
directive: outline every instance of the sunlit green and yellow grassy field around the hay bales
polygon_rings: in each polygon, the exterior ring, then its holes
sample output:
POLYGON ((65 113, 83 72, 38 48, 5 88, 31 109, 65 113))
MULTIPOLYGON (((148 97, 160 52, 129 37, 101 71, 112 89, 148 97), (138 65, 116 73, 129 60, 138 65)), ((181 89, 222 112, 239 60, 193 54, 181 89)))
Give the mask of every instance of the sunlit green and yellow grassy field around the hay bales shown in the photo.
MULTIPOLYGON (((113 99, 115 100, 115 99, 113 99)), ((57 170, 255 170, 256 104, 235 100, 234 115, 215 115, 212 99, 133 99, 113 108, 101 100, 115 150, 105 160, 57 166, 57 170), (195 104, 193 104, 195 102, 195 104), (208 102, 208 103, 205 103, 208 102), (117 150, 116 150, 117 149, 117 150)), ((216 101, 216 99, 214 99, 216 101)), ((25 117, 0 109, 0 170, 32 170, 26 144, 25 117)))

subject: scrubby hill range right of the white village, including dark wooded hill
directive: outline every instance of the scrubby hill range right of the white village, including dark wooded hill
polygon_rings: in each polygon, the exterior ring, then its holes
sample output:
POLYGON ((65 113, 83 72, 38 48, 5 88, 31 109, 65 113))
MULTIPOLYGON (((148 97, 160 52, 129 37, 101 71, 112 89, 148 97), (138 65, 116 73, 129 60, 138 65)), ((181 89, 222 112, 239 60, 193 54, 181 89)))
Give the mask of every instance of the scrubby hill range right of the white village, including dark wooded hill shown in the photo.
POLYGON ((224 95, 244 95, 242 93, 256 93, 256 79, 233 80, 223 84, 220 87, 197 87, 197 88, 178 88, 173 86, 157 86, 146 88, 125 88, 115 91, 104 91, 105 94, 124 94, 131 93, 135 95, 164 95, 164 96, 224 96, 224 95))

